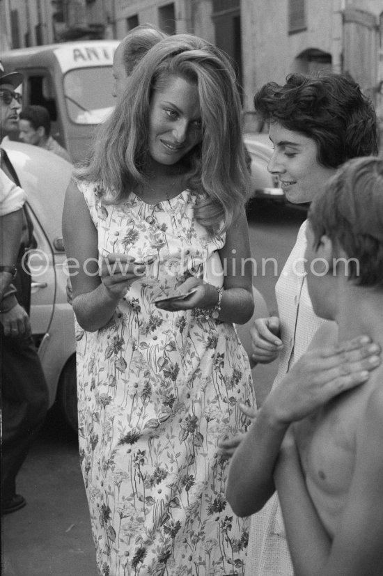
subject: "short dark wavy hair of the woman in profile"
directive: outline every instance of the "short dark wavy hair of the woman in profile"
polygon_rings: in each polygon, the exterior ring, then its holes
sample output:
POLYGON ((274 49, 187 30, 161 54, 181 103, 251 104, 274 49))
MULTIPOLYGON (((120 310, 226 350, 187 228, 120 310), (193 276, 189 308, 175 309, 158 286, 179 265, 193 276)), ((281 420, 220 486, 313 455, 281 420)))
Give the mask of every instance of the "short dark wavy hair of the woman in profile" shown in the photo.
POLYGON ((318 162, 338 168, 350 158, 377 155, 373 103, 350 75, 291 74, 286 84, 268 82, 254 97, 258 114, 300 132, 318 145, 318 162))

